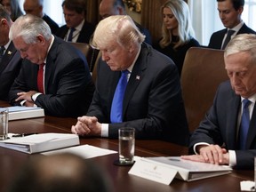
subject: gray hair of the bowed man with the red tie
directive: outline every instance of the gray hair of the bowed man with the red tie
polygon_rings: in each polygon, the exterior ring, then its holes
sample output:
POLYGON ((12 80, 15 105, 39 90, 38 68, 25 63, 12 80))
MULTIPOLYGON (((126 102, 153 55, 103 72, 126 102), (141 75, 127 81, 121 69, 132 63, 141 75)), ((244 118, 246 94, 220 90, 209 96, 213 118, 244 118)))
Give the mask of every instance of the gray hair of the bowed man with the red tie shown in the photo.
POLYGON ((52 32, 49 25, 39 17, 26 14, 20 16, 12 24, 10 28, 9 37, 11 40, 22 36, 22 39, 26 44, 36 44, 36 37, 38 35, 44 36, 48 41, 51 39, 52 32))

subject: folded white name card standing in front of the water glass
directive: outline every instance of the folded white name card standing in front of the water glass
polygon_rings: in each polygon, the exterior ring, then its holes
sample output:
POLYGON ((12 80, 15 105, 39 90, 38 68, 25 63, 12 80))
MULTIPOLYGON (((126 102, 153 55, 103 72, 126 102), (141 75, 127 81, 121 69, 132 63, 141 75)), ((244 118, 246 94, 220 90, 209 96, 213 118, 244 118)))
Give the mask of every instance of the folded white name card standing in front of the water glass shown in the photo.
POLYGON ((177 174, 177 170, 164 166, 164 164, 157 164, 144 158, 138 158, 128 173, 147 180, 170 185, 177 174))

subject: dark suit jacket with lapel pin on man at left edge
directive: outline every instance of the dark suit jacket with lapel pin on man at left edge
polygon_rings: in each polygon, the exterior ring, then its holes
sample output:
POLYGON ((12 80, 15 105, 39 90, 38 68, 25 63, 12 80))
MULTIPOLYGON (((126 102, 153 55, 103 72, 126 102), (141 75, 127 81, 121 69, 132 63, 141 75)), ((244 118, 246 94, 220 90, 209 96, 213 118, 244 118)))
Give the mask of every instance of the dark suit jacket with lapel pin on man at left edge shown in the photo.
POLYGON ((11 42, 0 63, 0 100, 8 100, 8 92, 19 75, 22 59, 11 42))

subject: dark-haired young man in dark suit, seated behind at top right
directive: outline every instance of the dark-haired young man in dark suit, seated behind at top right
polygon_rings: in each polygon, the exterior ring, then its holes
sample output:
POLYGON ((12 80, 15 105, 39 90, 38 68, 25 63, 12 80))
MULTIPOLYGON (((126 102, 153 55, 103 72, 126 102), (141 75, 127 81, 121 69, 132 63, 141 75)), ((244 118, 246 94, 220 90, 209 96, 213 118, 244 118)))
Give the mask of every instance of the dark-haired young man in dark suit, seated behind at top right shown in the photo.
POLYGON ((220 20, 225 29, 212 34, 209 48, 225 49, 224 42, 228 36, 228 30, 234 31, 231 38, 237 34, 256 34, 252 28, 248 28, 241 19, 244 11, 244 0, 217 0, 220 20))

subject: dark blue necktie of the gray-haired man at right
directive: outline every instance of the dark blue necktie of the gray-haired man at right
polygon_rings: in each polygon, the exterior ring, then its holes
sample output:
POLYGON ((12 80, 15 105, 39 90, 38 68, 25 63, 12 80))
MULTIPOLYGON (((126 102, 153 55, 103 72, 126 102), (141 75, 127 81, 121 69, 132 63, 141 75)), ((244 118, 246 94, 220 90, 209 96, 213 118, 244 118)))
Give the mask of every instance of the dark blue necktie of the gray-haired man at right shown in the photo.
POLYGON ((248 106, 251 104, 250 100, 244 99, 243 100, 243 114, 241 118, 241 124, 240 124, 240 131, 239 131, 239 144, 240 149, 245 149, 245 143, 247 139, 247 133, 249 130, 250 125, 250 113, 248 106))

